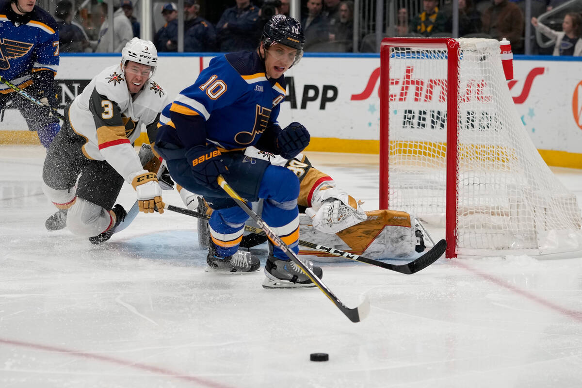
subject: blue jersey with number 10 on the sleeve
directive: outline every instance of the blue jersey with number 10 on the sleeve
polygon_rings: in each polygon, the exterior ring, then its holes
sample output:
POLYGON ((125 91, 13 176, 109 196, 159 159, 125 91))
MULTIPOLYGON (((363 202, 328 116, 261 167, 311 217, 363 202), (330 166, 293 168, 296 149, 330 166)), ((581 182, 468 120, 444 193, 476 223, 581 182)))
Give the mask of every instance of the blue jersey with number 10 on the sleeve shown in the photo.
POLYGON ((178 94, 171 121, 157 138, 186 149, 208 143, 221 151, 244 149, 265 131, 281 131, 277 118, 285 94, 285 76, 267 79, 256 52, 217 56, 178 94))

